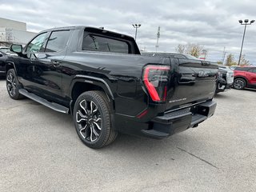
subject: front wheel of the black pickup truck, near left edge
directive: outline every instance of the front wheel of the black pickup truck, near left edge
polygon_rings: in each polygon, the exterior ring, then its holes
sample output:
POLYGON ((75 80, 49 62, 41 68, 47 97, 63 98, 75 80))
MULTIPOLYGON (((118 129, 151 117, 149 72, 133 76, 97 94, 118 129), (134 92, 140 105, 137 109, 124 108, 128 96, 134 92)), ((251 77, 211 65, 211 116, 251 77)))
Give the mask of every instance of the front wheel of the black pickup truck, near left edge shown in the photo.
POLYGON ((18 92, 19 84, 14 69, 10 69, 7 71, 6 88, 10 98, 13 98, 15 100, 24 98, 24 96, 18 92))

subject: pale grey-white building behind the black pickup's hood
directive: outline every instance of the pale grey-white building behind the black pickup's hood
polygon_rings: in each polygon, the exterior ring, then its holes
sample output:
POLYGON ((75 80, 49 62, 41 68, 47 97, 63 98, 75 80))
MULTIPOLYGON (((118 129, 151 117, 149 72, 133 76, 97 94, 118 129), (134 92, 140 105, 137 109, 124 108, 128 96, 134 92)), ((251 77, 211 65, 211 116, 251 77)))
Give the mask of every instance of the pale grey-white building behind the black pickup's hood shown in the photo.
POLYGON ((26 22, 0 18, 0 46, 25 45, 34 35, 34 32, 26 30, 26 22))

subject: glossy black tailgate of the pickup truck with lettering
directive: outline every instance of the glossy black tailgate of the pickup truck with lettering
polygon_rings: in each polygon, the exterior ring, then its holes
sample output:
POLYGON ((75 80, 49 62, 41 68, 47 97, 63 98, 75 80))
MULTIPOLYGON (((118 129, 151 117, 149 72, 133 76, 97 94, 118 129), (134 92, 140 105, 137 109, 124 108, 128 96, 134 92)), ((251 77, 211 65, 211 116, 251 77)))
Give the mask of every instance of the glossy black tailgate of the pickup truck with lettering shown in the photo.
POLYGON ((175 110, 213 98, 218 74, 216 64, 194 59, 173 60, 166 110, 175 110))

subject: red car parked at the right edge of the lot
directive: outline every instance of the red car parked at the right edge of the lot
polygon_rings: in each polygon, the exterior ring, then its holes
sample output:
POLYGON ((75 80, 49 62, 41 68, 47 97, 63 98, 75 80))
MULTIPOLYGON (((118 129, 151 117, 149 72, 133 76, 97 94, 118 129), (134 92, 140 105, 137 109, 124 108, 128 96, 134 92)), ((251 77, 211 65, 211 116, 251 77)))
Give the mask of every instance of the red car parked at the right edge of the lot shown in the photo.
POLYGON ((234 69, 234 89, 256 88, 256 66, 238 66, 234 69))

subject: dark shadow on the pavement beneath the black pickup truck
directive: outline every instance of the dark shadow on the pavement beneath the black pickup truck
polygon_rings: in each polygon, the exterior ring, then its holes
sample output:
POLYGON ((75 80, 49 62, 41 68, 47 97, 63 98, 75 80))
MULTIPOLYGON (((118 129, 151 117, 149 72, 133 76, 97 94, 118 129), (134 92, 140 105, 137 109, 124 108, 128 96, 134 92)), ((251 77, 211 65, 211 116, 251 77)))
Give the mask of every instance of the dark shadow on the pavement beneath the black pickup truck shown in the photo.
POLYGON ((178 162, 184 157, 186 159, 192 156, 198 158, 196 157, 197 154, 191 154, 194 147, 197 148, 200 146, 202 150, 205 150, 204 139, 189 130, 187 130, 187 134, 174 134, 162 140, 118 134, 118 138, 110 146, 103 147, 99 150, 91 150, 79 141, 80 139, 76 134, 71 115, 58 113, 30 99, 22 99, 19 102, 21 105, 32 106, 33 113, 38 114, 38 116, 41 115, 43 119, 49 119, 50 122, 58 122, 58 126, 61 127, 58 131, 61 130, 62 133, 69 134, 68 137, 71 137, 70 140, 72 142, 78 142, 77 150, 81 153, 87 153, 89 150, 93 154, 97 154, 100 158, 109 159, 110 162, 126 159, 127 163, 135 163, 137 165, 144 165, 146 163, 146 166, 158 166, 162 165, 165 159, 168 159, 170 162, 178 162))

